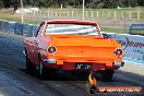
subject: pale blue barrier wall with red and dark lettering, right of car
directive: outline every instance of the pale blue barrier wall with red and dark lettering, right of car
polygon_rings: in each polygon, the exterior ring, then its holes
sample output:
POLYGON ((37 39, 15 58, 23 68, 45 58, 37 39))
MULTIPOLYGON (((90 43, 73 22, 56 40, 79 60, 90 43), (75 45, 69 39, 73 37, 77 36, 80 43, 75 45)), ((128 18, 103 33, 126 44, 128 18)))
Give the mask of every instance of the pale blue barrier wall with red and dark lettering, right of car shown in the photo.
POLYGON ((124 50, 124 56, 133 59, 144 60, 144 36, 103 33, 107 38, 118 39, 124 50))

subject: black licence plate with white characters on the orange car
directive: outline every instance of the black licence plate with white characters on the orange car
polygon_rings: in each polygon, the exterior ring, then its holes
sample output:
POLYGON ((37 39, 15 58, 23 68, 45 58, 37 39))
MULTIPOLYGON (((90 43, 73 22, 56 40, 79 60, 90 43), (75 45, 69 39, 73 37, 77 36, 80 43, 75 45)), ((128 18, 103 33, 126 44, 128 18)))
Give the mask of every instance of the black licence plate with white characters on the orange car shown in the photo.
POLYGON ((91 63, 77 62, 77 63, 75 63, 75 69, 76 70, 91 70, 92 69, 92 64, 91 63))

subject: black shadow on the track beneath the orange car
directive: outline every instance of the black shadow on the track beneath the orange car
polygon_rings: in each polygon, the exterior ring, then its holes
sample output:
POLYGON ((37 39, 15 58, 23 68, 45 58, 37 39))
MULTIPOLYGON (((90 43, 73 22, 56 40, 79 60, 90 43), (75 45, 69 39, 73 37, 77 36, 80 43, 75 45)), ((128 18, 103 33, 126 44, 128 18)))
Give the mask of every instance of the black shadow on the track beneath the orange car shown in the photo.
MULTIPOLYGON (((26 69, 19 69, 20 71, 38 79, 37 73, 28 73, 26 69)), ((87 81, 88 72, 80 72, 80 71, 51 71, 47 72, 45 79, 43 81, 87 81)))

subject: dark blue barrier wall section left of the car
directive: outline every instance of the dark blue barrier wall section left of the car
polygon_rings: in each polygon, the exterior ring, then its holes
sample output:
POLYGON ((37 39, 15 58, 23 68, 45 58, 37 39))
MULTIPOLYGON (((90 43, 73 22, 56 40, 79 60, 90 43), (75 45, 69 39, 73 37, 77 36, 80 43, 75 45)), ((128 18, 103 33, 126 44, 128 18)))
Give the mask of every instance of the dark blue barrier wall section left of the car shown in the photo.
POLYGON ((21 36, 34 36, 38 25, 0 21, 0 33, 10 33, 21 36))

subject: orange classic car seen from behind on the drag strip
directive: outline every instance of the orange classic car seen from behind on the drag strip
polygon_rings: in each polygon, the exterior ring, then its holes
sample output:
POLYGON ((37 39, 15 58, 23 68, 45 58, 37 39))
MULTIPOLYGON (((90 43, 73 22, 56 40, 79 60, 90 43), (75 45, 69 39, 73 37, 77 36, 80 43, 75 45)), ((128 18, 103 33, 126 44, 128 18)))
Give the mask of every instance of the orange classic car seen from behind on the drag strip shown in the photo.
POLYGON ((43 76, 49 69, 95 71, 112 79, 122 62, 122 47, 103 37, 96 22, 76 20, 46 21, 34 37, 25 37, 26 69, 43 76))

